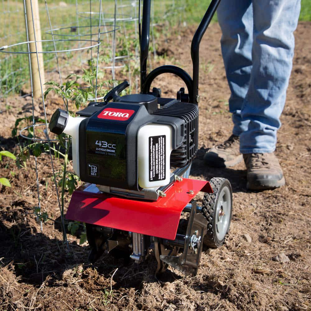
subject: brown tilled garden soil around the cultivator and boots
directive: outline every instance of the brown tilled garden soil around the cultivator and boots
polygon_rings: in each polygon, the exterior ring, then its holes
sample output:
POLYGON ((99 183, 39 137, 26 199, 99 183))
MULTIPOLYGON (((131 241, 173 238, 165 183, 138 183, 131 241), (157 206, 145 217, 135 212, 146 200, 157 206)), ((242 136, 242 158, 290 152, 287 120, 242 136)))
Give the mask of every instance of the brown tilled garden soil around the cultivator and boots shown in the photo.
MULTIPOLYGON (((10 176, 12 188, 0 190, 0 310, 311 310, 310 31, 311 23, 303 22, 295 32, 293 71, 278 133, 276 155, 286 185, 263 192, 246 190, 244 163, 230 169, 203 164, 208 148, 230 136, 232 122, 219 26, 211 25, 202 40, 200 149, 191 177, 229 179, 234 210, 225 244, 202 253, 195 277, 169 268, 158 280, 152 256, 137 265, 104 255, 90 265, 87 243, 79 246, 68 234, 68 248, 62 245, 48 155, 38 158, 40 203, 51 219, 42 231, 33 215, 38 205, 34 160, 18 170, 4 158, 1 177, 10 176), (282 253, 289 261, 277 261, 282 253)), ((191 72, 192 35, 193 29, 185 30, 163 43, 160 52, 167 58, 161 64, 173 61, 191 72)), ((169 75, 156 82, 163 97, 183 86, 169 75)), ((30 115, 30 100, 12 97, 6 104, 1 107, 1 144, 14 151, 17 139, 10 138, 11 131, 16 118, 30 115)), ((47 113, 58 105, 52 96, 47 113)), ((60 164, 54 161, 56 171, 60 164)))

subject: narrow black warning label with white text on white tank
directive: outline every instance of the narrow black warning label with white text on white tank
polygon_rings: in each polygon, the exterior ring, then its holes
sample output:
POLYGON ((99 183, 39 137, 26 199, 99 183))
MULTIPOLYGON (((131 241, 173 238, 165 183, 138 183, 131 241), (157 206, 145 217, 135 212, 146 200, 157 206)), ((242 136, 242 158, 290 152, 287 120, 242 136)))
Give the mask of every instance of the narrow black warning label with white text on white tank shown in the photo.
POLYGON ((149 137, 149 181, 165 179, 165 135, 149 137))

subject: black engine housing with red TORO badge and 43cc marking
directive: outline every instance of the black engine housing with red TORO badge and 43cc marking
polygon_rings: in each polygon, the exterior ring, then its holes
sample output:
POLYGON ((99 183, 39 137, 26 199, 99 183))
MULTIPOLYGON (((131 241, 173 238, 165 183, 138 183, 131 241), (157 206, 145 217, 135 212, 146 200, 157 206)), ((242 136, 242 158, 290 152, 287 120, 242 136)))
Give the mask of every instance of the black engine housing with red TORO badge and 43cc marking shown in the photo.
POLYGON ((133 94, 108 104, 91 103, 77 114, 88 117, 79 127, 79 169, 84 182, 140 190, 137 133, 148 123, 171 126, 171 166, 186 166, 197 152, 198 107, 195 104, 133 94), (129 117, 118 120, 104 116, 110 111, 126 111, 129 117))

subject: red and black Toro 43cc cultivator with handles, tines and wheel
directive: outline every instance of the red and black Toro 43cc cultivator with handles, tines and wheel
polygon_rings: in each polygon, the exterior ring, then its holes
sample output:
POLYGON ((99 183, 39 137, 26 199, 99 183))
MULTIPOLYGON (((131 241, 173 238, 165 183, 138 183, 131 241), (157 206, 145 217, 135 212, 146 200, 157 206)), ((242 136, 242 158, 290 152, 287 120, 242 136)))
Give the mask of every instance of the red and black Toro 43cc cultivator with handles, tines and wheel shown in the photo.
POLYGON ((85 182, 74 191, 67 219, 86 223, 90 261, 108 251, 137 262, 154 254, 156 273, 168 265, 196 275, 202 246, 223 244, 232 214, 228 180, 189 179, 198 149, 199 44, 219 4, 211 1, 191 45, 193 78, 176 66, 146 74, 150 2, 143 0, 140 29, 141 93, 120 96, 124 81, 73 118, 57 109, 51 132, 72 136, 73 169, 85 182), (162 98, 151 82, 160 74, 180 77, 188 88, 162 98), (205 192, 202 206, 194 197, 205 192), (188 214, 187 229, 179 226, 188 214))

